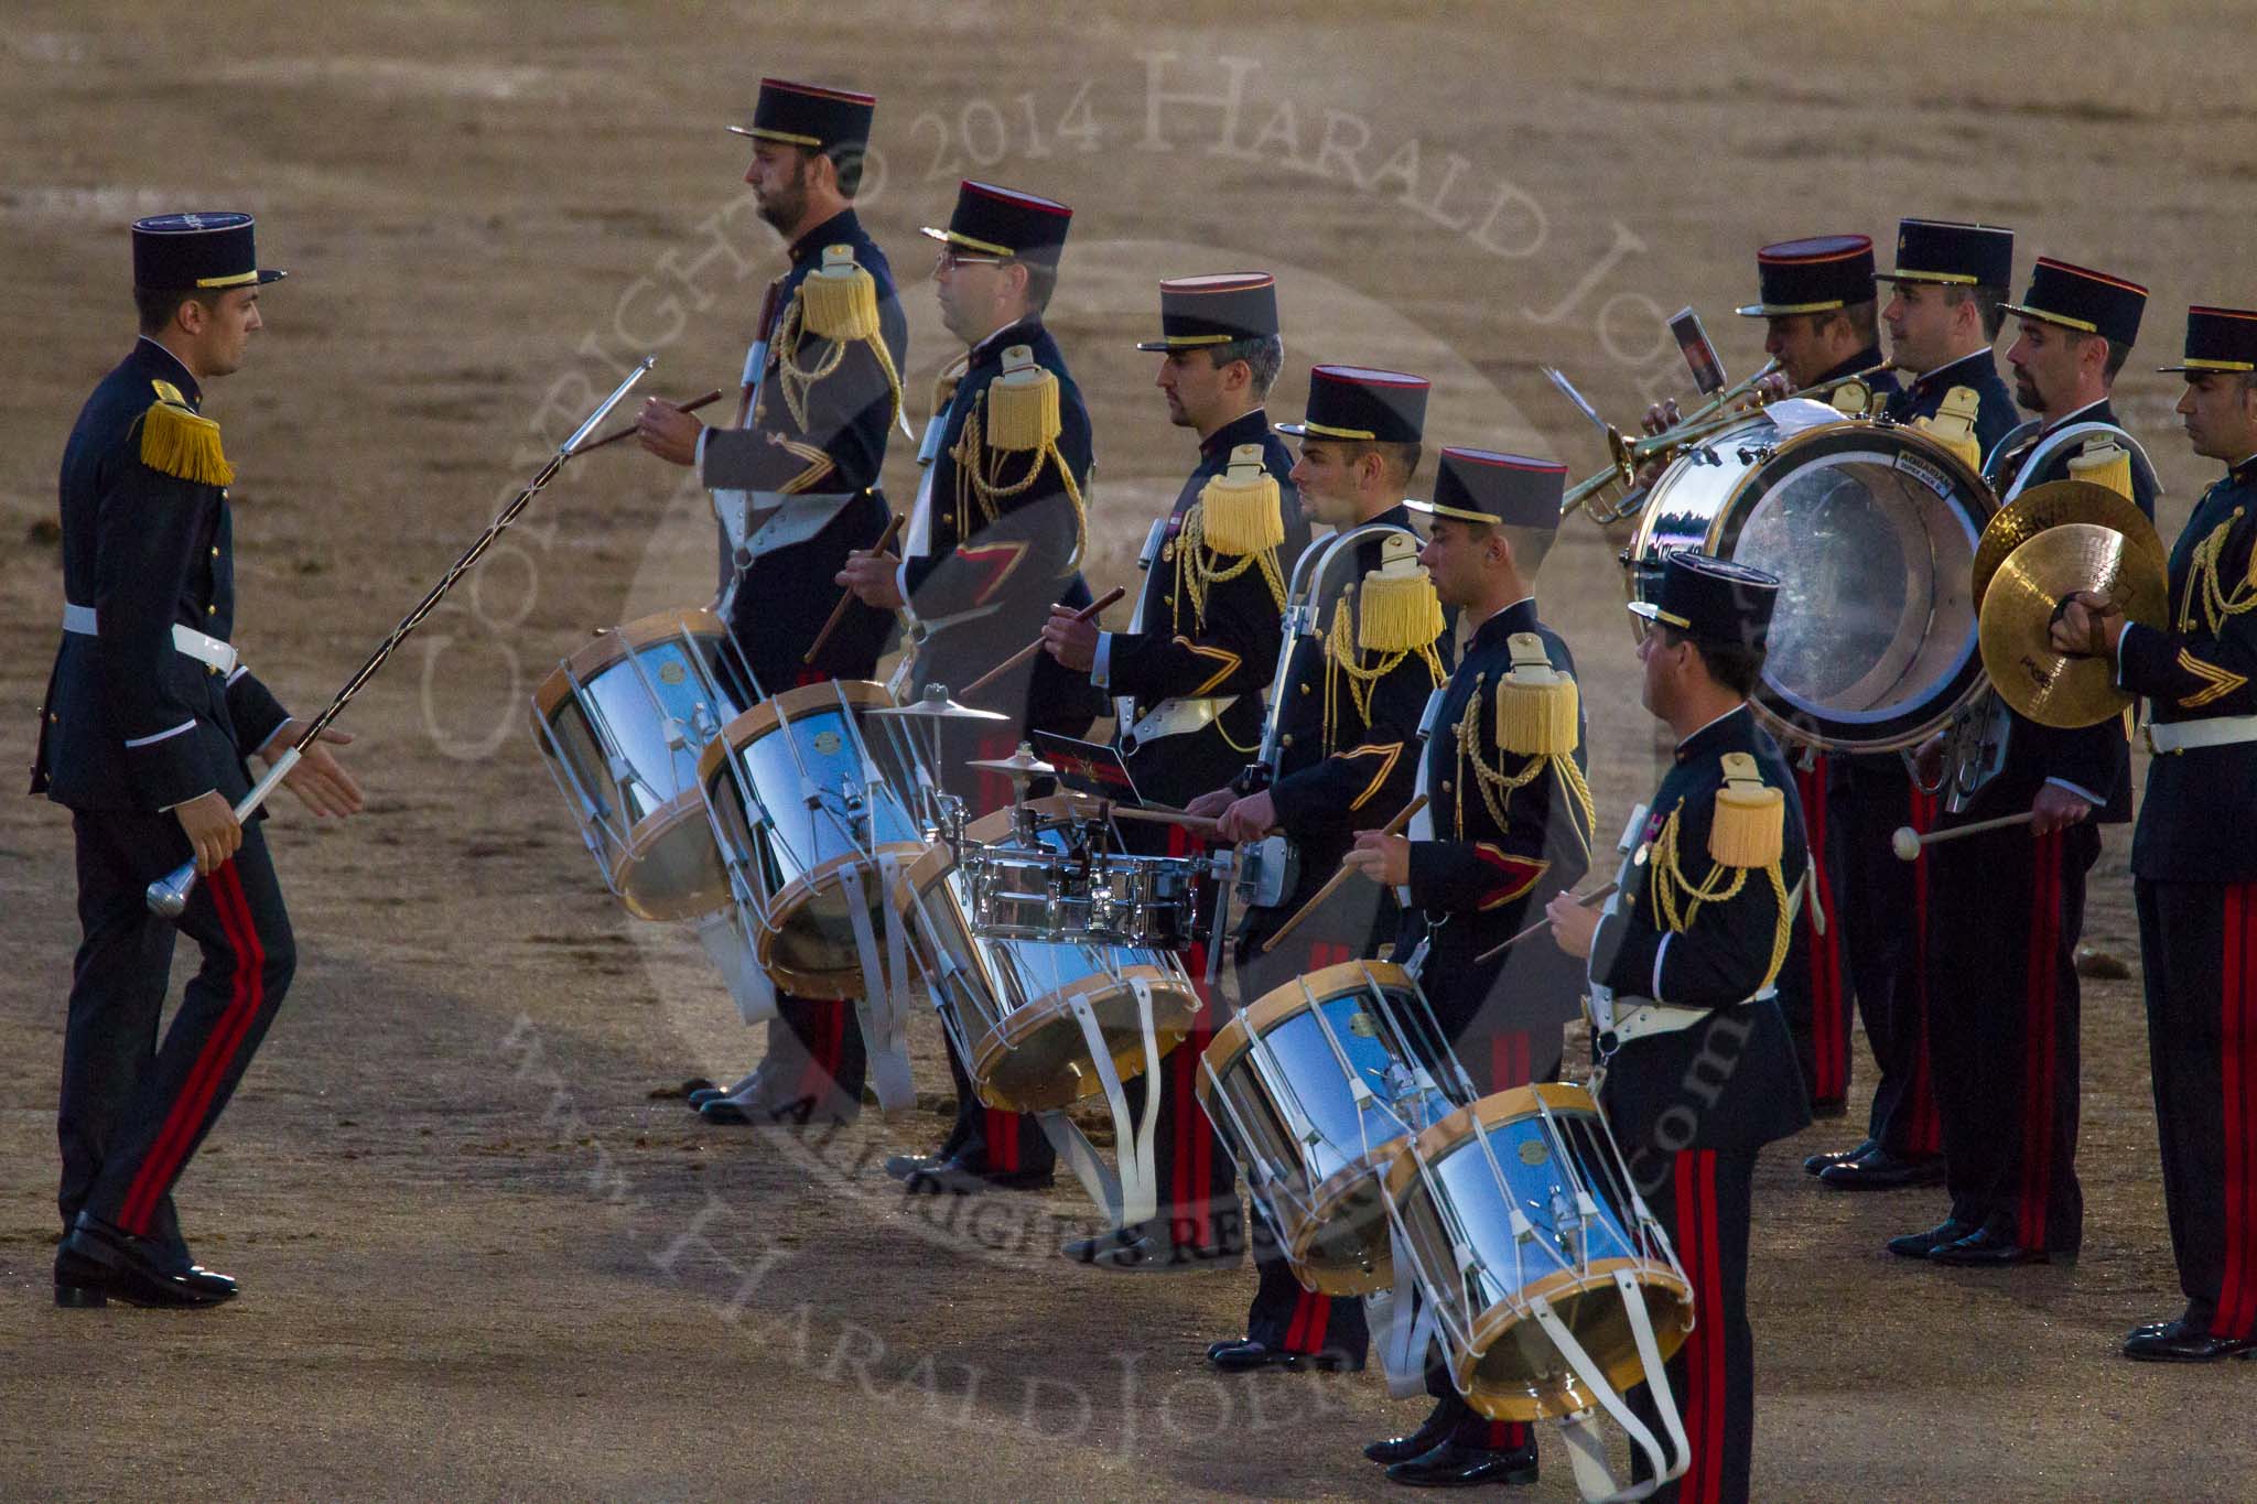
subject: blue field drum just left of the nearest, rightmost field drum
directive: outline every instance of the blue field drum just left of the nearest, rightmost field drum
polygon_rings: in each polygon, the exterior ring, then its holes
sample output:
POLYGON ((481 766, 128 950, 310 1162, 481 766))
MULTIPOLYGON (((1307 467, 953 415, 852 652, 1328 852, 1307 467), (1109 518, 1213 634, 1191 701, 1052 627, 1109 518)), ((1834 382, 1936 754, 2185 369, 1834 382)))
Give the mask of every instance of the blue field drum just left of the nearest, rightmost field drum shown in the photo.
POLYGON ((1347 961, 1262 994, 1207 1046, 1198 1103, 1311 1290, 1393 1276, 1379 1173, 1454 1107, 1408 1051, 1404 1019, 1422 1015, 1399 965, 1347 961))

